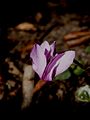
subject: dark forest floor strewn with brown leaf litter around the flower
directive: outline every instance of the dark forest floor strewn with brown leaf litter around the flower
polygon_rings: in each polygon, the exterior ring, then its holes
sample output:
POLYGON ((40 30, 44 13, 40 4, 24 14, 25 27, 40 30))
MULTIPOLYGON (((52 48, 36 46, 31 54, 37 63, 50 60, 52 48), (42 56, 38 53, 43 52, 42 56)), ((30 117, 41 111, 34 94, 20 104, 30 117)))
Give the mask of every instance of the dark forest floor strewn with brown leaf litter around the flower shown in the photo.
POLYGON ((90 16, 56 12, 52 12, 50 18, 43 18, 43 14, 38 12, 34 22, 23 21, 7 29, 3 46, 0 45, 0 111, 23 111, 24 66, 31 65, 29 55, 32 46, 44 40, 49 43, 56 41, 57 52, 75 50, 76 59, 85 69, 74 65, 62 76, 47 83, 33 96, 26 111, 37 113, 46 109, 52 114, 87 112, 90 103, 77 102, 75 92, 79 87, 90 84, 90 16))

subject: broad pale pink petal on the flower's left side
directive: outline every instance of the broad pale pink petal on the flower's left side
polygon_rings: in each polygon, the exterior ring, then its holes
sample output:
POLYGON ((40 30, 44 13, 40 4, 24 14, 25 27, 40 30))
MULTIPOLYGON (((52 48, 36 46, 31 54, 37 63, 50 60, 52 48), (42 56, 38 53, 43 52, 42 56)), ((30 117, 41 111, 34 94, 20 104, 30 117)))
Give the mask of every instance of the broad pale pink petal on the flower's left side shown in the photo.
POLYGON ((33 61, 33 69, 35 72, 39 75, 41 78, 44 69, 46 67, 46 57, 41 49, 41 47, 38 44, 35 44, 31 53, 30 57, 33 61))

